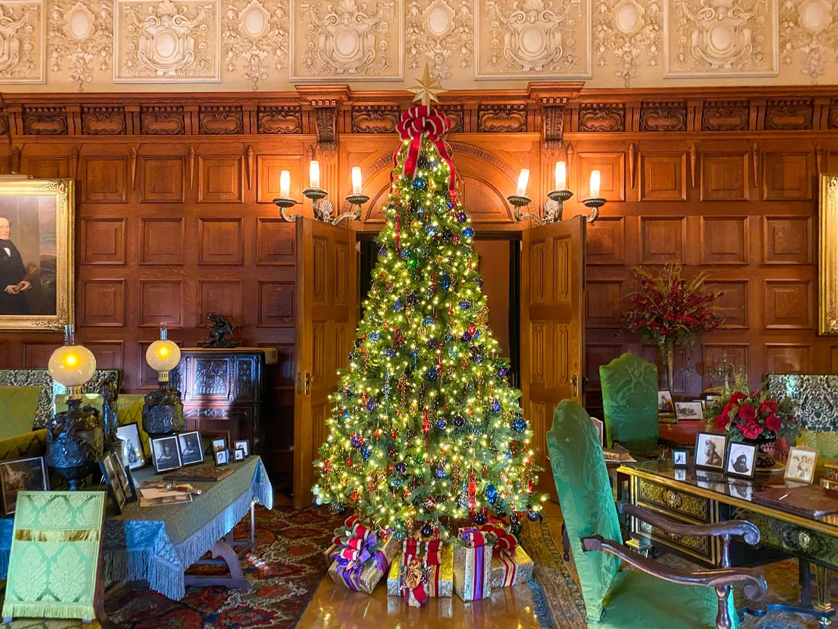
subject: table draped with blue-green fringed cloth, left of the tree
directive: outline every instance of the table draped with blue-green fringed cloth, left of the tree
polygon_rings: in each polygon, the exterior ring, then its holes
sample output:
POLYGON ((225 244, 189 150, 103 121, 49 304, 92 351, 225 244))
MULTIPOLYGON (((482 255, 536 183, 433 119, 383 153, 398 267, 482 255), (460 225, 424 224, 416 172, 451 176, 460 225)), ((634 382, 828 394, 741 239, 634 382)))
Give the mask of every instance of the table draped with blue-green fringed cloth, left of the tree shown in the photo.
MULTIPOLYGON (((252 503, 273 507, 271 481, 258 456, 230 467, 234 473, 222 481, 188 481, 203 491, 193 502, 162 507, 130 502, 122 515, 109 512, 102 553, 106 581, 146 580, 152 590, 172 600, 182 599, 185 570, 235 527, 250 512, 252 503)), ((135 470, 134 480, 139 485, 165 476, 153 472, 150 467, 135 470)), ((12 528, 11 517, 0 520, 3 579, 8 574, 12 528)))

